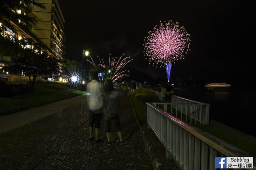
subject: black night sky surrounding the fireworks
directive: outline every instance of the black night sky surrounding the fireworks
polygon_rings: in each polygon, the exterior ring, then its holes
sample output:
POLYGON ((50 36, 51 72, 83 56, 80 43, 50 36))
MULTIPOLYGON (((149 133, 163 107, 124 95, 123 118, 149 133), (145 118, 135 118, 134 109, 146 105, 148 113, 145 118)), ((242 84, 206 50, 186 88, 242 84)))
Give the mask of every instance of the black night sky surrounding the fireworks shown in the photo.
MULTIPOLYGON (((134 60, 128 80, 167 81, 164 68, 148 65, 144 38, 161 21, 178 21, 190 33, 191 52, 172 65, 173 82, 247 84, 254 77, 255 24, 252 2, 207 1, 73 1, 59 0, 66 20, 67 59, 82 62, 88 49, 105 58, 122 53, 134 60)), ((106 62, 108 63, 108 62, 106 62)))

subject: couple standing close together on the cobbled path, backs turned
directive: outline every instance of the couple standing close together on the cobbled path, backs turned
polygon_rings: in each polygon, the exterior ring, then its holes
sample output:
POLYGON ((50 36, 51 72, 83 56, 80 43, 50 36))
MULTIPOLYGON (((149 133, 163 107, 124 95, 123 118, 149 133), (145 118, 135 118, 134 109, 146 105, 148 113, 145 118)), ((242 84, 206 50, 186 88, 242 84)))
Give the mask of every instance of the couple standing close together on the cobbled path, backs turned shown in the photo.
POLYGON ((127 141, 122 139, 122 129, 120 125, 120 119, 118 113, 120 113, 120 98, 118 92, 114 90, 112 80, 107 79, 105 86, 98 81, 98 72, 91 72, 92 81, 87 84, 86 91, 90 93, 88 96, 89 105, 89 140, 94 139, 92 135, 93 126, 95 126, 95 142, 102 142, 99 139, 100 121, 102 115, 105 119, 106 125, 106 137, 108 140, 108 145, 111 145, 110 140, 110 127, 111 121, 114 121, 116 126, 116 131, 120 140, 120 145, 124 145, 127 141), (110 115, 111 114, 111 115, 110 115))

